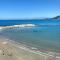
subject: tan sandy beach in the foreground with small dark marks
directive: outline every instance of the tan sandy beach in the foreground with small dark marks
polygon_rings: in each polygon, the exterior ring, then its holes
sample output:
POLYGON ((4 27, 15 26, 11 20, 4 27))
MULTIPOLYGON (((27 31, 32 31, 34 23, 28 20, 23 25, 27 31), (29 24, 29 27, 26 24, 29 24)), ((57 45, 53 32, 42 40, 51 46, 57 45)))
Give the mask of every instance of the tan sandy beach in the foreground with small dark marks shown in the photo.
POLYGON ((60 57, 42 54, 42 52, 35 53, 5 38, 0 38, 0 60, 60 60, 60 57))

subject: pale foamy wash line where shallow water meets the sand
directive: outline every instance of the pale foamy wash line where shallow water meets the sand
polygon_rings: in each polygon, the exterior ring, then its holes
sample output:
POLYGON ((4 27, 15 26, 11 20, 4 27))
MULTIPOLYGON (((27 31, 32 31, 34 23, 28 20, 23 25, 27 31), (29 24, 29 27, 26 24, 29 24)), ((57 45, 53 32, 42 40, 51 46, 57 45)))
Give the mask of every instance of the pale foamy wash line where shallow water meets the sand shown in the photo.
POLYGON ((55 56, 55 58, 59 58, 60 59, 60 54, 58 55, 58 53, 56 53, 56 52, 49 51, 49 53, 44 53, 44 52, 41 52, 41 51, 35 51, 36 48, 34 48, 34 47, 29 49, 25 45, 23 45, 21 43, 18 43, 18 42, 15 42, 15 41, 12 41, 10 39, 3 39, 3 41, 8 42, 10 45, 17 47, 18 49, 22 49, 22 50, 31 52, 33 54, 42 55, 44 57, 46 57, 46 56, 54 57, 55 56))

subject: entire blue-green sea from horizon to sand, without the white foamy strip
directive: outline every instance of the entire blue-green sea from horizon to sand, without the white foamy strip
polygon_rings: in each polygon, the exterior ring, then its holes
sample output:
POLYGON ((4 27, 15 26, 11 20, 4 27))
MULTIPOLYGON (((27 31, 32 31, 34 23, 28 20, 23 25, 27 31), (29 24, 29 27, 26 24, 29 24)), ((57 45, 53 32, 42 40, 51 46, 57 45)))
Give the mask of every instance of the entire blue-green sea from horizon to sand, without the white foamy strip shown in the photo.
POLYGON ((60 53, 60 20, 0 20, 1 27, 21 24, 34 24, 36 27, 2 29, 0 36, 2 35, 30 48, 60 53))

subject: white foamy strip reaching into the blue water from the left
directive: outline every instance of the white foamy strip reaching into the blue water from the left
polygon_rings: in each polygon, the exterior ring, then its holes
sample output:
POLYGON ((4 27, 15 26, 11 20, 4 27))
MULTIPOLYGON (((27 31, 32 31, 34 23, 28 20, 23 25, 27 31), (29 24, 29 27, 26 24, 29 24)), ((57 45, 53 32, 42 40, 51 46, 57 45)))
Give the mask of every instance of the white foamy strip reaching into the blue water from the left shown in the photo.
POLYGON ((7 28, 31 28, 36 27, 35 24, 20 24, 20 25, 12 25, 12 26, 0 26, 0 30, 7 29, 7 28))

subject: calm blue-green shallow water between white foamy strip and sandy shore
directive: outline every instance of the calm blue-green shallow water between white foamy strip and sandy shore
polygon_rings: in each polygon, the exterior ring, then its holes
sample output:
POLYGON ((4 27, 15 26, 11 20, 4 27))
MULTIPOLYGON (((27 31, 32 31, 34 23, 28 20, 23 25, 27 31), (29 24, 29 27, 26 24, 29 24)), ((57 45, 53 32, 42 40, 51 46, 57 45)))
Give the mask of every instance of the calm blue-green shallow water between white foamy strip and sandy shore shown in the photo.
MULTIPOLYGON (((60 21, 42 21, 42 26, 33 28, 6 29, 1 31, 0 35, 3 35, 11 40, 23 43, 27 46, 36 47, 38 49, 44 49, 48 51, 60 52, 59 23, 60 21)), ((41 21, 37 24, 40 25, 41 21)))

